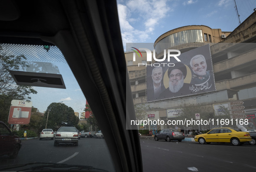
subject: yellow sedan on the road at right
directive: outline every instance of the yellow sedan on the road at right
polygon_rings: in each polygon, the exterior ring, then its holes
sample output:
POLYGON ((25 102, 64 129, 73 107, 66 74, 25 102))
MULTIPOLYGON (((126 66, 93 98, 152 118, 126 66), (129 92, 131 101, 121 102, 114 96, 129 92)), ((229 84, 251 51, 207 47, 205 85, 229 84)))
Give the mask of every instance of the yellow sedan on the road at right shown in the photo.
POLYGON ((206 134, 199 134, 194 137, 196 142, 201 144, 220 142, 232 143, 235 146, 241 145, 244 142, 251 141, 249 132, 239 131, 230 127, 214 128, 206 134))

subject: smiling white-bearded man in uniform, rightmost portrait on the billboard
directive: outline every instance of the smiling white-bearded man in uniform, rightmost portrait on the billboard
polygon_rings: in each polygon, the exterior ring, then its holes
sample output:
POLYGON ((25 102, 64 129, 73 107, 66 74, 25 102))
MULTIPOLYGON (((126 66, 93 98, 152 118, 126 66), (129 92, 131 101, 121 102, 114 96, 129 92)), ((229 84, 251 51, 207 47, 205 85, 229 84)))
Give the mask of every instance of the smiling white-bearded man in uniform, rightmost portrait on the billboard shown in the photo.
POLYGON ((214 84, 213 71, 207 71, 207 63, 203 55, 198 54, 191 58, 190 67, 194 74, 191 76, 191 84, 195 86, 208 83, 210 86, 214 84))

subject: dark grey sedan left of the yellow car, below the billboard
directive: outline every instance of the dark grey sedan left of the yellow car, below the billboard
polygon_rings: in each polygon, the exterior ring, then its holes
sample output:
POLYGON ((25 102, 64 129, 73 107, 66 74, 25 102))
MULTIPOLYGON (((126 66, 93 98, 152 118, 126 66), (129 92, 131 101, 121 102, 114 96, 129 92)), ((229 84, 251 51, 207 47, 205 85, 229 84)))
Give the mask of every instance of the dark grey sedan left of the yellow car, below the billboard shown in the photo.
POLYGON ((159 134, 156 134, 154 139, 156 141, 163 139, 168 142, 171 140, 178 140, 179 142, 181 142, 183 139, 185 139, 185 135, 178 130, 168 128, 160 131, 159 134))

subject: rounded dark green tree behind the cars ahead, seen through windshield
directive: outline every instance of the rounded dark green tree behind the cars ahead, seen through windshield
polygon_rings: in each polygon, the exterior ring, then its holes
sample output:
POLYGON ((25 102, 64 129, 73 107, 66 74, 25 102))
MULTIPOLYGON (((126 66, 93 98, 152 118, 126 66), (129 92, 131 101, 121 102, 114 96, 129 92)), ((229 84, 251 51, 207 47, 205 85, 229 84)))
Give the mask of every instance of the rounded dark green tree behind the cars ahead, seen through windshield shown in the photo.
MULTIPOLYGON (((75 126, 78 124, 78 119, 71 107, 64 103, 51 103, 45 111, 45 122, 49 112, 47 128, 59 128, 67 123, 67 126, 75 126)), ((45 124, 45 123, 44 123, 45 124)))

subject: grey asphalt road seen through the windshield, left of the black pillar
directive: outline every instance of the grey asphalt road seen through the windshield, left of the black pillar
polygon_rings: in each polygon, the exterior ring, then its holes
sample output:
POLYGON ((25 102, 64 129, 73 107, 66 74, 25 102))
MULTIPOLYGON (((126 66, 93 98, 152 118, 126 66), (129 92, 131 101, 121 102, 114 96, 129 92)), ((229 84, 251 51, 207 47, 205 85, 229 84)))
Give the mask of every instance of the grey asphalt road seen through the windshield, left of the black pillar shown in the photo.
POLYGON ((16 159, 0 156, 0 166, 32 162, 53 162, 72 165, 93 166, 114 171, 111 156, 104 139, 81 138, 78 146, 60 144, 53 146, 54 140, 22 140, 22 147, 16 159))

